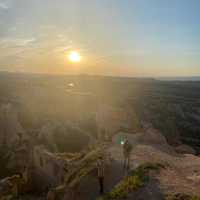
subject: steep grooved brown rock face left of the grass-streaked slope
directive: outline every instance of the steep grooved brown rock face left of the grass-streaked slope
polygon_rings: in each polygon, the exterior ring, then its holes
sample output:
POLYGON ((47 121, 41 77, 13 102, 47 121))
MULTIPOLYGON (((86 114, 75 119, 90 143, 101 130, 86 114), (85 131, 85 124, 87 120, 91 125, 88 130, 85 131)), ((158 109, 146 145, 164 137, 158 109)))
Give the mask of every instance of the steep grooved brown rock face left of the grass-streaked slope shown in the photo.
POLYGON ((30 167, 30 184, 32 190, 44 192, 50 187, 63 183, 64 166, 67 160, 60 159, 41 146, 36 146, 32 154, 32 167, 30 167))

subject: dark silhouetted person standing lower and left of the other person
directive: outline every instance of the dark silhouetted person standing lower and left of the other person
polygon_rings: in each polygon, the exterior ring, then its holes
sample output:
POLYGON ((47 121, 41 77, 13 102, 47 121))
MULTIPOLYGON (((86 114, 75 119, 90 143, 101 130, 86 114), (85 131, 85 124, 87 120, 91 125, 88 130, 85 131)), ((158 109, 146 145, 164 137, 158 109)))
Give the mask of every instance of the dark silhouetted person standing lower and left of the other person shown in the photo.
POLYGON ((101 195, 104 193, 105 164, 104 164, 103 156, 99 156, 97 160, 97 170, 98 170, 98 180, 99 180, 99 193, 101 195))

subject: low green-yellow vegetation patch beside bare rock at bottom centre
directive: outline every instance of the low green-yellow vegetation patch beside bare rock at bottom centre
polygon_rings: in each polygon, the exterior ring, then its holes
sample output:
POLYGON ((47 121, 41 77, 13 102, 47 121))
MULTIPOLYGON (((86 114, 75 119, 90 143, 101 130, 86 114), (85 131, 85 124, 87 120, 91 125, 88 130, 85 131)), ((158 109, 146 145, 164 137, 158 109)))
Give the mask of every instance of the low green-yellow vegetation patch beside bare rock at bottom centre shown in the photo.
POLYGON ((144 163, 135 170, 132 170, 109 193, 103 197, 99 197, 97 200, 124 199, 130 192, 138 190, 149 181, 150 171, 159 171, 161 168, 164 168, 164 165, 160 163, 144 163))

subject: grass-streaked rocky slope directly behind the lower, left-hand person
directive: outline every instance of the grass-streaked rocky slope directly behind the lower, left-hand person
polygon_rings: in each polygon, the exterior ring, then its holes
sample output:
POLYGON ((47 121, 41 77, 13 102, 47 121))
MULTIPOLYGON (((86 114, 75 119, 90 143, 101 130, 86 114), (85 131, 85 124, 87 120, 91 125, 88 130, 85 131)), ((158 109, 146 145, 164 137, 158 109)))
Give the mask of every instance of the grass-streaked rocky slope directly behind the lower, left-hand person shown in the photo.
POLYGON ((73 159, 65 168, 63 185, 51 189, 48 196, 60 196, 61 200, 95 199, 99 194, 96 169, 99 155, 104 158, 106 190, 110 190, 123 177, 123 169, 103 149, 105 146, 100 146, 73 159))

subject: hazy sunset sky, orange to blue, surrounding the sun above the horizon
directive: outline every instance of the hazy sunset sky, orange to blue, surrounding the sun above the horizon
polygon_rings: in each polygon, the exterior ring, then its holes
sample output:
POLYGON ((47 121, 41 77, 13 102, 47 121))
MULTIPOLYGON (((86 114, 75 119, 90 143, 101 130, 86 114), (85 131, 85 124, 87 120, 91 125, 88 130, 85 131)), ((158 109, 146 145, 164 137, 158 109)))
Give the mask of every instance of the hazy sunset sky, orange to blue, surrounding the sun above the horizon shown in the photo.
POLYGON ((200 75, 200 1, 0 0, 0 70, 200 75))

